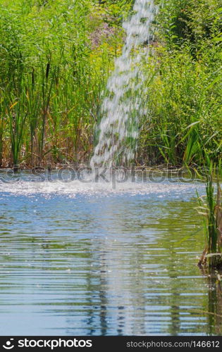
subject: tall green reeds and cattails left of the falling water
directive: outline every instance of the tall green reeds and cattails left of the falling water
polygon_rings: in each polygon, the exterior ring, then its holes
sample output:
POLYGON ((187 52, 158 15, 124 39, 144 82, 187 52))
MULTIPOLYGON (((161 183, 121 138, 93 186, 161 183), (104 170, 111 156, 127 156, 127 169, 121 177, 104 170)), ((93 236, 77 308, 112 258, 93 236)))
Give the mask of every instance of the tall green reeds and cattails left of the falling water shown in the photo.
POLYGON ((132 1, 0 1, 0 167, 89 158, 132 1))

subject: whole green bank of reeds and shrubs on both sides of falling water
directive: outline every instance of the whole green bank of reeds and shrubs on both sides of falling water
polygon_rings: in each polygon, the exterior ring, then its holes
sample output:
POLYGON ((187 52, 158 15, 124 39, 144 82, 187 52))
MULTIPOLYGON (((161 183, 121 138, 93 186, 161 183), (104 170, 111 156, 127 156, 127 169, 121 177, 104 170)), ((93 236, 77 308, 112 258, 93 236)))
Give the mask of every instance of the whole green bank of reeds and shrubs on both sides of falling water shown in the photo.
MULTIPOLYGON (((0 0, 0 167, 89 161, 132 4, 0 0)), ((139 139, 126 144, 136 149, 137 165, 219 162, 222 0, 156 4, 141 65, 146 113, 139 126, 137 116, 132 121, 139 139)))

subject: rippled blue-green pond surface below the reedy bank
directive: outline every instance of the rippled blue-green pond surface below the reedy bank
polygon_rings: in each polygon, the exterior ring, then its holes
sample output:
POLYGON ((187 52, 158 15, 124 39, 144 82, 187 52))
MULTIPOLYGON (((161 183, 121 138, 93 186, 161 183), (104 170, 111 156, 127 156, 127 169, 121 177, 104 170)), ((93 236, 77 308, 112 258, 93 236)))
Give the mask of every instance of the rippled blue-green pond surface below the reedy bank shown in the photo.
POLYGON ((0 182, 0 334, 221 334, 196 188, 0 182))

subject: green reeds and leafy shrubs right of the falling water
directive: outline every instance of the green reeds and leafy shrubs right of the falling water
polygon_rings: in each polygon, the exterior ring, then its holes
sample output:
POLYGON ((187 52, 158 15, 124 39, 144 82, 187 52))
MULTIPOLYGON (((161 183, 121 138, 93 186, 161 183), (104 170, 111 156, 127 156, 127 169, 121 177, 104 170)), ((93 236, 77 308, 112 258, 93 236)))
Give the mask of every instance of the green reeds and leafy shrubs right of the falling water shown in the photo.
POLYGON ((137 163, 204 165, 222 151, 222 1, 158 1, 144 62, 137 163))

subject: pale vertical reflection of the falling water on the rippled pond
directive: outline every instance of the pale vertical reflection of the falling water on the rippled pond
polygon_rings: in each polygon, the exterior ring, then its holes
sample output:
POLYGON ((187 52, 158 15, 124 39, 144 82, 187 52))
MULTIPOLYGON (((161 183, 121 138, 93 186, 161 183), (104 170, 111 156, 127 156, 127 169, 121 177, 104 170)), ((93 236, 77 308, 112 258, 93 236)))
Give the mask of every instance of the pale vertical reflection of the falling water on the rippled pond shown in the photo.
MULTIPOLYGON (((115 243, 115 242, 114 242, 115 243)), ((135 246, 130 253, 125 247, 113 248, 113 241, 102 237, 97 243, 92 243, 92 258, 94 275, 87 278, 92 298, 88 299, 92 309, 88 310, 87 325, 90 334, 145 334, 145 298, 141 288, 144 285, 144 275, 139 269, 130 272, 128 261, 134 268, 140 268, 140 249, 135 246), (127 254, 127 258, 125 258, 127 254), (95 314, 97 306, 97 314, 95 314), (140 307, 140 310, 137 307, 140 307), (92 327, 93 325, 93 327, 92 327), (115 331, 116 330, 116 331, 115 331)))

